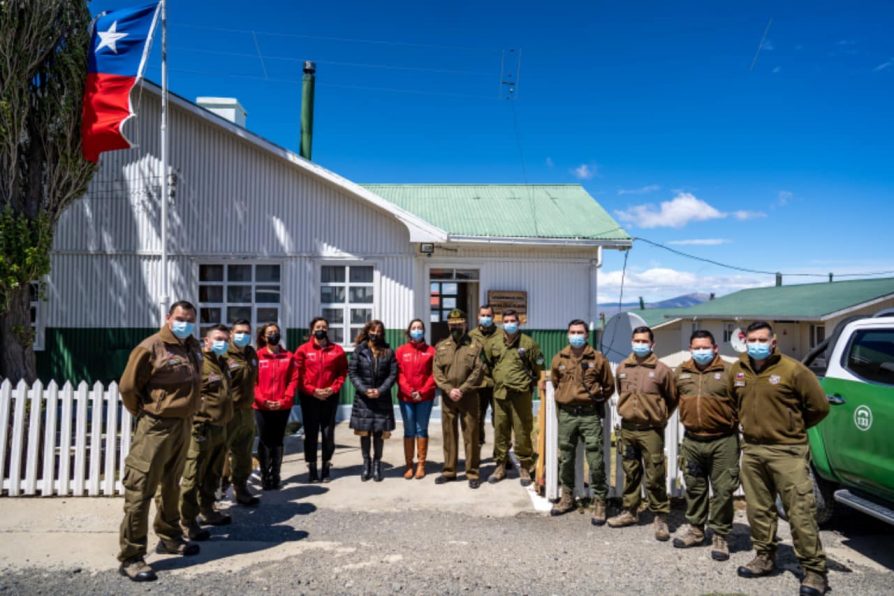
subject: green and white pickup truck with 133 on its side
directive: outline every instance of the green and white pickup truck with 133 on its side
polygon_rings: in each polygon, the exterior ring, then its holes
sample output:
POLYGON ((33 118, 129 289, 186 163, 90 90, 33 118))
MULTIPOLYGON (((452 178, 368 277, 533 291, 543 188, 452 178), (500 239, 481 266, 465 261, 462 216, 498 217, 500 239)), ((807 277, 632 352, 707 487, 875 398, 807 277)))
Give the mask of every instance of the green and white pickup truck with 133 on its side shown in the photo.
POLYGON ((892 315, 842 321, 804 359, 831 406, 808 431, 821 524, 842 505, 894 524, 892 315))

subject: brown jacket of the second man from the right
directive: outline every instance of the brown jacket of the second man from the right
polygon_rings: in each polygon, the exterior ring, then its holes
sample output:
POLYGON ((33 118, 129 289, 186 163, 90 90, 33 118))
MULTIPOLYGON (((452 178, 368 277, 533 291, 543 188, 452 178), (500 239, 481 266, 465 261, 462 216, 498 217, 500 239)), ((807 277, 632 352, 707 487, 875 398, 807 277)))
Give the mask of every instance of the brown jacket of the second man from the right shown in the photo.
POLYGON ((680 396, 680 421, 687 433, 706 439, 726 437, 736 432, 736 404, 730 395, 730 365, 720 356, 700 370, 692 359, 674 372, 680 396))

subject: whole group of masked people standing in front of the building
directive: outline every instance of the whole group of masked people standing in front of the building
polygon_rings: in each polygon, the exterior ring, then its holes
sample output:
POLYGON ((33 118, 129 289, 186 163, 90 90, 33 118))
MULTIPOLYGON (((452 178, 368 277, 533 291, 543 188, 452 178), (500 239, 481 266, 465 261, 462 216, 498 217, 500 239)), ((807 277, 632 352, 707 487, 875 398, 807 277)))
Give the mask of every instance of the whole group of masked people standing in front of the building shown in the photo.
MULTIPOLYGON (((414 319, 406 329, 407 342, 396 350, 385 340, 384 324, 369 321, 357 336, 349 361, 341 346, 329 340, 329 324, 322 317, 311 321, 309 338, 294 353, 283 347, 281 330, 272 323, 258 330, 255 350, 249 345, 247 321, 237 321, 231 329, 215 325, 200 344, 193 335, 195 307, 175 303, 162 329, 133 350, 121 378, 124 406, 136 418, 123 479, 121 573, 134 581, 156 578, 144 559, 153 496, 154 527, 160 538, 157 551, 181 555, 199 551, 196 542, 209 537, 203 525, 230 523, 230 517, 215 508, 225 468, 223 483, 233 486, 235 501, 258 504, 247 488, 255 427, 262 488, 278 489, 283 438, 296 401, 305 430, 307 481, 328 482, 338 395, 346 377, 355 388, 350 428, 360 439, 362 481, 383 479, 384 441, 396 426, 392 406, 396 385, 404 427, 405 479, 425 477, 429 417, 440 390, 444 463, 435 483, 458 478, 461 430, 466 480, 472 489, 480 486, 484 420, 490 407, 496 465, 488 481, 506 477, 513 446, 520 482, 530 485, 533 393, 538 382, 541 389, 545 386, 544 358, 537 343, 520 332, 518 313, 505 310, 501 315, 498 329, 493 308, 483 306, 470 332, 465 313, 454 309, 447 319, 450 335, 435 347, 425 341, 423 321, 414 319)), ((741 474, 757 555, 739 567, 738 574, 751 578, 775 570, 779 495, 792 525, 795 553, 805 569, 800 593, 823 594, 826 561, 807 475, 806 430, 822 420, 829 407, 813 374, 776 349, 772 327, 762 321, 751 324, 746 330, 747 353, 732 365, 720 358, 710 332, 695 331, 691 359, 676 371, 655 356, 654 335, 648 327, 633 331, 631 354, 614 374, 588 336, 584 321, 571 321, 568 345, 555 355, 549 369, 558 410, 562 487, 552 514, 576 506, 575 451, 582 441, 594 496, 592 523, 613 528, 637 524, 644 489, 655 538, 669 540, 664 429, 679 406, 686 430, 681 465, 689 526, 674 539, 674 546, 706 544, 710 529, 712 558, 729 558, 733 493, 741 474), (617 446, 625 484, 621 512, 606 518, 603 420, 606 402, 616 388, 621 418, 617 446)))

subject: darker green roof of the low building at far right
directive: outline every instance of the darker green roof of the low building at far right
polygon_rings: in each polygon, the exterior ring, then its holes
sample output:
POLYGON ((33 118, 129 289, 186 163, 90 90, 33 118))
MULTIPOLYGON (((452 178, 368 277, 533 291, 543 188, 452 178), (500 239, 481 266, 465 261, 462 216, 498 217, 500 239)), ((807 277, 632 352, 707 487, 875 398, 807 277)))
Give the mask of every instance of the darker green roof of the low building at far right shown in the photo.
POLYGON ((894 298, 894 278, 751 288, 676 309, 673 315, 674 318, 820 320, 827 315, 886 297, 894 298))

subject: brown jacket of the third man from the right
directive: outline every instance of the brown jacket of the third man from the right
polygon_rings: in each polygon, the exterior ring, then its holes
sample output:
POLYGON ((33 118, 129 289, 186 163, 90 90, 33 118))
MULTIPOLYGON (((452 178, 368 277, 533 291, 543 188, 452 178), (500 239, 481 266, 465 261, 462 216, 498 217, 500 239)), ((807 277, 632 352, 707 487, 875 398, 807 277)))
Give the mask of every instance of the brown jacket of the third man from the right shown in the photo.
POLYGON ((677 407, 674 373, 655 354, 642 363, 631 354, 615 371, 618 381, 618 413, 622 426, 664 428, 677 407))

